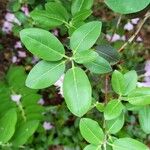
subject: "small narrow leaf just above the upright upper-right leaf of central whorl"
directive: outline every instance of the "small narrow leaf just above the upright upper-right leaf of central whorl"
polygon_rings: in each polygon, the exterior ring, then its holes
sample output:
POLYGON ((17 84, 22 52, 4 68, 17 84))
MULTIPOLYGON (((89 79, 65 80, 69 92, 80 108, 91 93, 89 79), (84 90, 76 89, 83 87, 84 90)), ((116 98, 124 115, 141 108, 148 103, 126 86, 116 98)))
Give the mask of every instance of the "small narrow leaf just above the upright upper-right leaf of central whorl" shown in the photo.
POLYGON ((92 14, 91 10, 82 10, 78 12, 74 17, 72 18, 71 22, 74 24, 76 22, 80 22, 88 18, 92 14))

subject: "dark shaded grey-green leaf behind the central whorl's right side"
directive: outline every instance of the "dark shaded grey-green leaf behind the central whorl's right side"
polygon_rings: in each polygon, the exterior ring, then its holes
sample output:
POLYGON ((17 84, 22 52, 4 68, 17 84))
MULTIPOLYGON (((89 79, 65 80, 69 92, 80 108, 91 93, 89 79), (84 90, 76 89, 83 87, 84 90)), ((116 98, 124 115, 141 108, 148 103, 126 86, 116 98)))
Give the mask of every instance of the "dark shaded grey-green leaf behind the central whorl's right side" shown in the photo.
POLYGON ((111 45, 99 45, 96 47, 96 52, 112 65, 120 60, 118 51, 111 45))

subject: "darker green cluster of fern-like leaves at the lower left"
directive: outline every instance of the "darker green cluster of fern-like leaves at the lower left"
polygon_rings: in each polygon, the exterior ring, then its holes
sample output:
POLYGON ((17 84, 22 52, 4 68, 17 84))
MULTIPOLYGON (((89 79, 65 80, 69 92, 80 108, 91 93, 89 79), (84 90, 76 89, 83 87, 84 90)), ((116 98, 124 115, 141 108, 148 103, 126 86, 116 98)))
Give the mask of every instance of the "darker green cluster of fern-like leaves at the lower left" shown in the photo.
POLYGON ((12 66, 0 83, 1 144, 22 146, 34 134, 39 121, 43 120, 44 108, 38 104, 41 96, 36 90, 27 88, 25 80, 24 68, 12 66), (17 95, 21 95, 19 100, 13 98, 17 95))

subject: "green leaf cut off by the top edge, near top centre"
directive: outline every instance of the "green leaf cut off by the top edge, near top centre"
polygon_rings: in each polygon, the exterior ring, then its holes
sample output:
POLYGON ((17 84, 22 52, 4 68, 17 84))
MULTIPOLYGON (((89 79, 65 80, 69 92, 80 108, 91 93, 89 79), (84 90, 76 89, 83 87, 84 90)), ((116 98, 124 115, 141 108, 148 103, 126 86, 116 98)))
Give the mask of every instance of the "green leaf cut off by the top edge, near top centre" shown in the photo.
POLYGON ((89 10, 93 5, 93 0, 73 0, 71 6, 71 13, 75 15, 82 10, 89 10))

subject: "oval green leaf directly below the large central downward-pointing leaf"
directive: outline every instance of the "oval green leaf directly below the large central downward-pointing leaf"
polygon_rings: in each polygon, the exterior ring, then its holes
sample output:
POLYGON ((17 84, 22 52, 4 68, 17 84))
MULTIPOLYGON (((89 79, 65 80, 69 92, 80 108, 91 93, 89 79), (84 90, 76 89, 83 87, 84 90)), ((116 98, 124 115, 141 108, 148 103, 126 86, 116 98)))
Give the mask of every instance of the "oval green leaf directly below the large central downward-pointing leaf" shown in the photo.
POLYGON ((89 118, 80 120, 80 132, 84 139, 93 145, 101 145, 104 140, 104 133, 99 124, 89 118))

